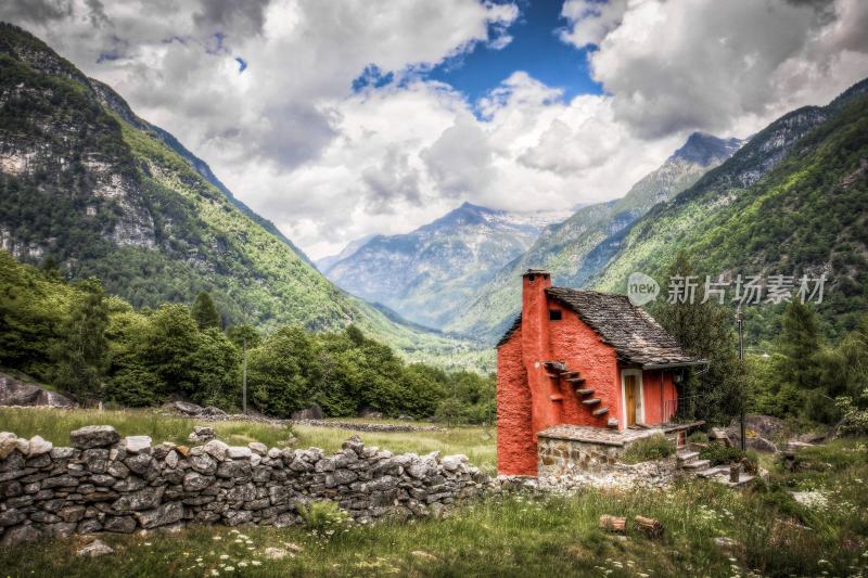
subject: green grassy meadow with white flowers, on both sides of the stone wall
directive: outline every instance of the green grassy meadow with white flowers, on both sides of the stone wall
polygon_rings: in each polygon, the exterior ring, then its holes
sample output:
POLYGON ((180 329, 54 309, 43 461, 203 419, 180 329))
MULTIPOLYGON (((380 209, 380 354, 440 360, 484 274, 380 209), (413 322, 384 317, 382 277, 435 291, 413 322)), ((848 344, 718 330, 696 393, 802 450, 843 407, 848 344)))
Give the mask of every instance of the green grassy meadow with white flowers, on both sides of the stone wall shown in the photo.
MULTIPOLYGON (((69 429, 111 423, 125 434, 182 441, 192 421, 146 412, 0 410, 0 429, 65 442, 69 429), (99 418, 99 419, 97 419, 99 418)), ((197 423, 197 422, 196 422, 197 423)), ((289 429, 215 423, 230 442, 279 444, 289 429)), ((352 433, 294 427, 298 445, 333 449, 352 433)), ((393 451, 461 452, 485 466, 494 438, 478 428, 361 434, 393 451)), ((704 480, 666 490, 585 490, 572 497, 493 496, 441 519, 375 527, 197 527, 104 535, 115 553, 80 558, 85 538, 0 550, 0 576, 865 576, 868 574, 868 449, 837 440, 799 452, 799 470, 771 460, 768 483, 733 491, 704 480), (801 492, 803 502, 792 492, 801 492), (807 497, 807 498, 805 498, 807 497), (651 539, 597 527, 601 514, 661 521, 651 539), (720 538, 729 539, 722 544, 720 538), (273 558, 268 549, 280 549, 273 558)))

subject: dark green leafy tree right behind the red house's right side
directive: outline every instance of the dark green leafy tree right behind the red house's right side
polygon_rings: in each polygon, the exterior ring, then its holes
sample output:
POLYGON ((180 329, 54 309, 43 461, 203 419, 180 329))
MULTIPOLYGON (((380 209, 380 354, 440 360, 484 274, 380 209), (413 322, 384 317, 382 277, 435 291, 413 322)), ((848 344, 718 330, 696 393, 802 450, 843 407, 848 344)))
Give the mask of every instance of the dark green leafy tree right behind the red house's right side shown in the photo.
MULTIPOLYGON (((675 275, 695 275, 684 253, 669 267, 667 277, 675 275)), ((666 303, 655 313, 660 324, 687 352, 710 362, 706 371, 687 374, 679 391, 688 398, 682 407, 692 410, 695 419, 728 423, 745 403, 744 371, 738 360, 729 312, 712 300, 694 300, 666 303)))

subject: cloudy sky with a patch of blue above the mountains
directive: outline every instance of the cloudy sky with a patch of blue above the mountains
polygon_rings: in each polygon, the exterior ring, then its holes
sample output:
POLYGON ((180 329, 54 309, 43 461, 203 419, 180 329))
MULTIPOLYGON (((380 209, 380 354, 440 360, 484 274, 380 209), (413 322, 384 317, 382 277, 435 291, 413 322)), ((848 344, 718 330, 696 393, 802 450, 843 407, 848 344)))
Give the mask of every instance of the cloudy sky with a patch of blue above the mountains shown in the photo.
POLYGON ((864 0, 4 0, 312 257, 623 195, 868 76, 864 0))

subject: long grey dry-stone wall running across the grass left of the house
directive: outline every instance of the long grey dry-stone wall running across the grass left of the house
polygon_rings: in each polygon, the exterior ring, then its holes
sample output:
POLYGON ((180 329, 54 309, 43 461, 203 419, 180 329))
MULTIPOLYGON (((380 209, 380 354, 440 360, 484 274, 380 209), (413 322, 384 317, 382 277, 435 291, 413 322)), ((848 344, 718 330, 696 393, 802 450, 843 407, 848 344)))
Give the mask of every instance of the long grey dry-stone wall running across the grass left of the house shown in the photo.
POLYGON ((437 514, 480 494, 487 476, 464 455, 395 455, 354 436, 343 450, 188 448, 111 426, 71 434, 71 448, 0 433, 0 543, 186 524, 301 524, 299 505, 331 500, 356 522, 437 514))

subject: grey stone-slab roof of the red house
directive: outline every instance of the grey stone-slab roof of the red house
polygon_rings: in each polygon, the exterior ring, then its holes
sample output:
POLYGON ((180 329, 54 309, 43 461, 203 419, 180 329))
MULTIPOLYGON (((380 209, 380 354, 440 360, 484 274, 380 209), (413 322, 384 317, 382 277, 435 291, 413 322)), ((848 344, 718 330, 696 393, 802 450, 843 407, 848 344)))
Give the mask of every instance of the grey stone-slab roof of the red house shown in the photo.
POLYGON ((622 361, 640 365, 701 362, 682 350, 675 337, 626 295, 565 287, 549 287, 546 293, 575 311, 603 343, 615 349, 622 361))

